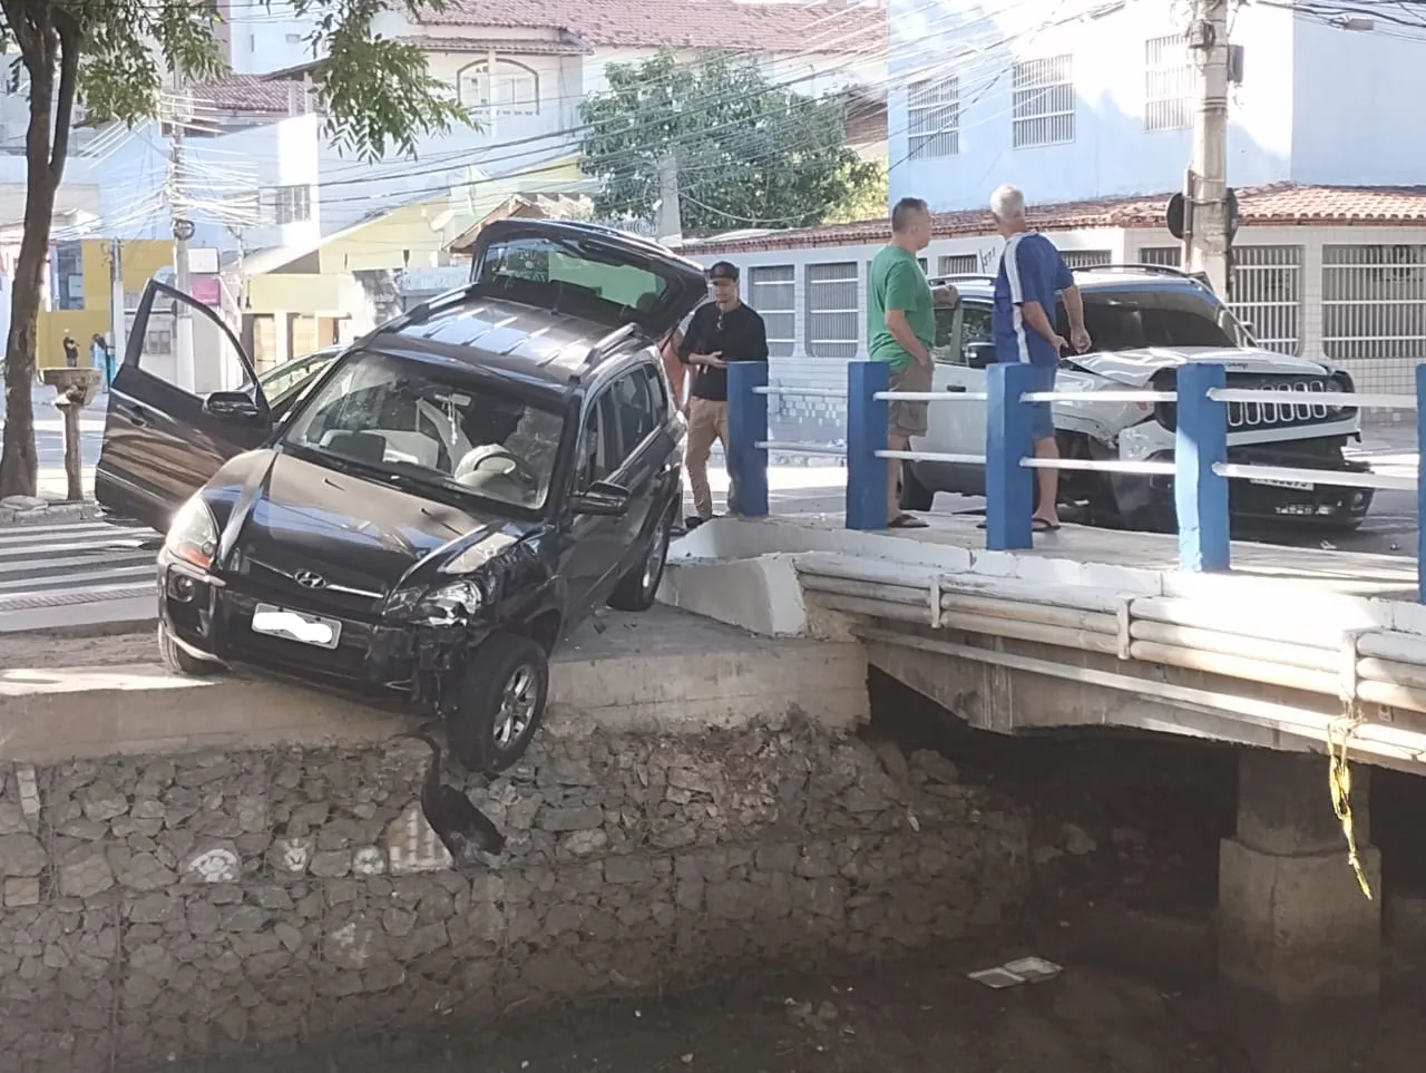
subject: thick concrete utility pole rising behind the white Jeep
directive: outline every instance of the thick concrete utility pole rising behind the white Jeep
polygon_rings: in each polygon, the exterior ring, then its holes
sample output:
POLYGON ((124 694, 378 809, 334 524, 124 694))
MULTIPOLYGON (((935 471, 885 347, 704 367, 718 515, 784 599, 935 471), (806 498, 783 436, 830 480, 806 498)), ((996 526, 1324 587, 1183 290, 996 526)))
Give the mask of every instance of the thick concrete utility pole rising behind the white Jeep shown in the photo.
POLYGON ((1205 273, 1214 293, 1228 297, 1228 0, 1194 0, 1188 49, 1198 71, 1194 164, 1185 181, 1188 201, 1184 267, 1205 273))

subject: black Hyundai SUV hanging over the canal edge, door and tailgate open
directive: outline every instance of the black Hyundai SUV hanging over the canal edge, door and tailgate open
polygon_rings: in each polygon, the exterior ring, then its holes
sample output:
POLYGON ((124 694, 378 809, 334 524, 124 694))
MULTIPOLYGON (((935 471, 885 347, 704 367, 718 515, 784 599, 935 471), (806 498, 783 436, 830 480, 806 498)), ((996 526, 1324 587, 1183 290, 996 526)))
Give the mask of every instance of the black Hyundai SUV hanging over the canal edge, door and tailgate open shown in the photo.
POLYGON ((468 287, 352 344, 275 417, 227 325, 151 283, 96 495, 167 532, 164 662, 405 693, 463 763, 512 765, 555 645, 605 602, 653 604, 684 439, 653 340, 704 294, 657 244, 492 223, 468 287), (241 390, 171 382, 148 321, 173 302, 231 345, 241 390))

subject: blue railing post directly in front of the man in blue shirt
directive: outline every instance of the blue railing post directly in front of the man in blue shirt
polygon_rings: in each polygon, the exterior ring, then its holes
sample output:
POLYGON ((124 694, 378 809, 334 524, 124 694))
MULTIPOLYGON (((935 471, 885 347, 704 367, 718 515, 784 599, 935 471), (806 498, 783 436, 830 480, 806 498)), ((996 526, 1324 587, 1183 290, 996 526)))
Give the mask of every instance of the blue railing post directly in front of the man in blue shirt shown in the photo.
POLYGON ((1035 474, 1020 464, 1034 449, 1030 408, 1020 401, 1035 390, 1034 370, 1021 361, 985 370, 985 546, 1015 551, 1034 546, 1035 474))

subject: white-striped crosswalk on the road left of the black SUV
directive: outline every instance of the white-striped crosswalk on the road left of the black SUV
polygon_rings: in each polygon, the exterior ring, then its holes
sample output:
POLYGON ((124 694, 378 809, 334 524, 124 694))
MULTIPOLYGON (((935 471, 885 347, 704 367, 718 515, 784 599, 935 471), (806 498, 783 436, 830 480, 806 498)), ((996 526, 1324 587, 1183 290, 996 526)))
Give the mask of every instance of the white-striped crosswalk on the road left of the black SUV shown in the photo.
POLYGON ((0 605, 134 595, 154 584, 158 541, 110 522, 0 528, 0 605))

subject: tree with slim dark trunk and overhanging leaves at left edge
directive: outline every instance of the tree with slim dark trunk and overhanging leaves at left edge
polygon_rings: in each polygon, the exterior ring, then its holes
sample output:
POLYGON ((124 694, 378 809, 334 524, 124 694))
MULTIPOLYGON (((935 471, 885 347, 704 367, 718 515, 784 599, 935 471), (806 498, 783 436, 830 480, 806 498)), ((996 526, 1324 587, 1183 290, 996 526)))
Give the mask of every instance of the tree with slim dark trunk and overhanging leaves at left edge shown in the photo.
MULTIPOLYGON (((411 13, 441 3, 402 0, 411 13)), ((465 118, 449 90, 426 71, 416 46, 372 34, 384 0, 294 0, 292 7, 315 16, 314 51, 327 59, 317 64, 314 83, 328 131, 344 148, 368 160, 392 148, 414 153, 421 134, 465 118)), ((217 23, 214 0, 0 0, 0 39, 19 50, 13 81, 23 74, 30 84, 24 234, 4 352, 0 497, 36 491, 36 318, 74 106, 81 103, 96 121, 151 118, 167 73, 201 81, 222 71, 217 23)))

